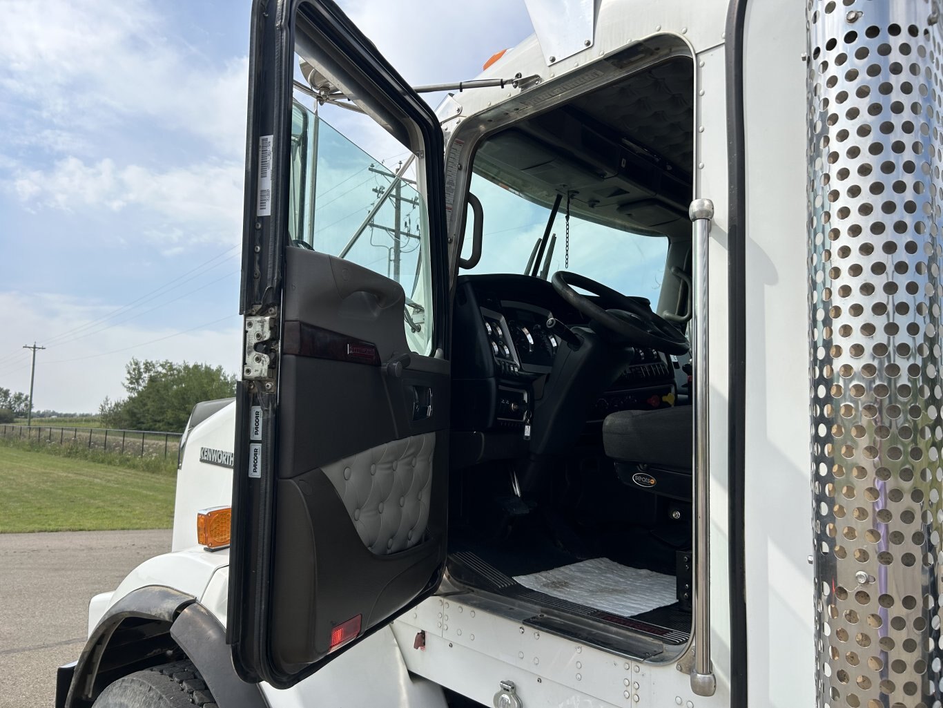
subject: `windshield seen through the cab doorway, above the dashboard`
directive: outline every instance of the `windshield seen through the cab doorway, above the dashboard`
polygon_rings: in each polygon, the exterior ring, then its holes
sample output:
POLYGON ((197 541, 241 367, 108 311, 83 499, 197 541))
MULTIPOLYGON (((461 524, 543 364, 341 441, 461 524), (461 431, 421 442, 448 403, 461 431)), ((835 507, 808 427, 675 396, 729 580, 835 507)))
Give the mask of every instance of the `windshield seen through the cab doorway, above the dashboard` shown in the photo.
MULTIPOLYGON (((484 232, 481 260, 465 272, 524 273, 534 246, 547 227, 550 210, 477 174, 472 176, 472 194, 482 203, 484 232)), ((571 270, 623 295, 641 295, 657 302, 668 257, 668 239, 604 227, 572 215, 568 265, 566 203, 564 197, 540 273, 546 269, 550 278, 558 270, 571 270)), ((471 210, 467 218, 462 244, 462 258, 466 259, 472 253, 471 210)))

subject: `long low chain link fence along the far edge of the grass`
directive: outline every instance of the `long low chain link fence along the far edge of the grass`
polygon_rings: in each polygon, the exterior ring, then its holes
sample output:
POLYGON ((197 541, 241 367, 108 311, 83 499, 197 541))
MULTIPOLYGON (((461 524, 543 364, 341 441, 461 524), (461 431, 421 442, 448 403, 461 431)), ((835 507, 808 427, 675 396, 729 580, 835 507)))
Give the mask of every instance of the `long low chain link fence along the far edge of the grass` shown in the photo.
POLYGON ((63 428, 60 426, 0 425, 0 438, 35 440, 50 445, 72 445, 138 457, 176 457, 179 432, 118 430, 114 428, 63 428))

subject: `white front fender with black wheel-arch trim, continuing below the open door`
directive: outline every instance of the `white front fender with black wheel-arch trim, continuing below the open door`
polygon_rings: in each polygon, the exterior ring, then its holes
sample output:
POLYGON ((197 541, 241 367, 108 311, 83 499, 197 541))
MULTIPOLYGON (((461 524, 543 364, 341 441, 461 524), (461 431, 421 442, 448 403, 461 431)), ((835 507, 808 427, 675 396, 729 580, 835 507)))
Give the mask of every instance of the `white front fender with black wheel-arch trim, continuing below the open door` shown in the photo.
MULTIPOLYGON (((89 708, 108 683, 183 651, 222 708, 384 705, 447 708, 441 687, 409 673, 389 629, 374 633, 329 667, 284 691, 243 683, 225 643, 228 551, 188 548, 145 561, 111 594, 57 708, 89 708), (141 642, 136 641, 141 638, 141 642), (363 681, 365 672, 370 681, 363 681), (264 696, 264 698, 263 698, 264 696)), ((103 598, 104 599, 104 598, 103 598)))

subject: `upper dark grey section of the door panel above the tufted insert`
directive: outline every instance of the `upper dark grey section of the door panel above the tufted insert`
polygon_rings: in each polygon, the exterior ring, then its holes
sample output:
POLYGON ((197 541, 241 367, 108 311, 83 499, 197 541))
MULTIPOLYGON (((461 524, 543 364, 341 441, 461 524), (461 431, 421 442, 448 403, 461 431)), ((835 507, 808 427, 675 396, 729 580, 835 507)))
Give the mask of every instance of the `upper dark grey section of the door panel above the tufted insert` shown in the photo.
POLYGON ((285 279, 280 477, 447 429, 449 362, 409 351, 398 283, 302 248, 287 250, 285 279), (403 354, 400 375, 386 373, 403 354))

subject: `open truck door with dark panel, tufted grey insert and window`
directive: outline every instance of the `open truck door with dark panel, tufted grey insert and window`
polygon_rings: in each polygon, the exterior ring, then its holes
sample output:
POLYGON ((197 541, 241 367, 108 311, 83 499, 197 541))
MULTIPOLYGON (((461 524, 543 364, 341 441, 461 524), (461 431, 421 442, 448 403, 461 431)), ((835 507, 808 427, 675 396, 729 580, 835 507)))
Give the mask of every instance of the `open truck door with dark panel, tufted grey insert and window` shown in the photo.
POLYGON ((328 0, 254 3, 247 140, 227 641, 244 680, 286 687, 441 578, 443 146, 328 0), (323 118, 340 106, 353 138, 323 118))

